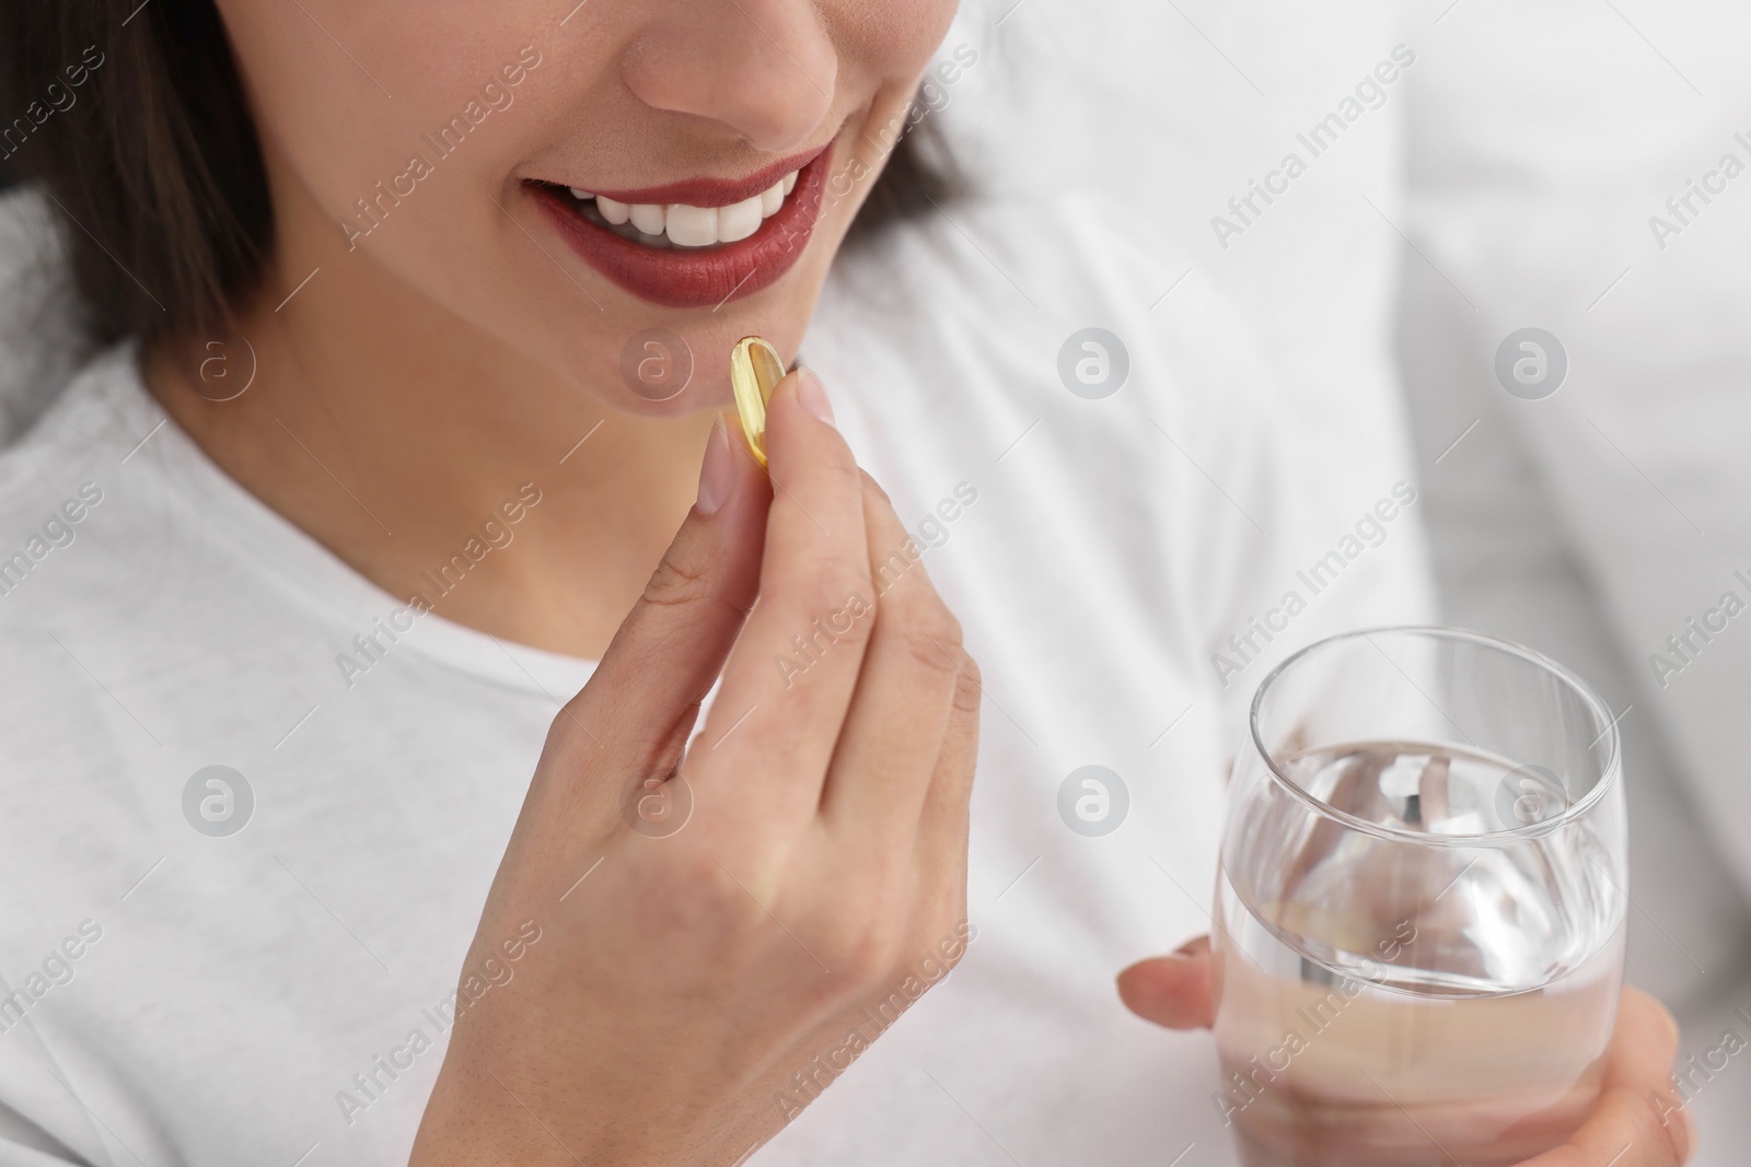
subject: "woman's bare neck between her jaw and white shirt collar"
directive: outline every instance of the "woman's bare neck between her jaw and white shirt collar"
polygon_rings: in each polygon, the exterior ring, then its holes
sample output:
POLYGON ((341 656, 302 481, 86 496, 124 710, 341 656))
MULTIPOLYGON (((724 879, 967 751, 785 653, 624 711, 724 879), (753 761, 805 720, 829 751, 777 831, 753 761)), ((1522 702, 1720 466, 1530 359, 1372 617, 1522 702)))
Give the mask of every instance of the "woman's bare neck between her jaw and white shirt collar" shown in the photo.
POLYGON ((615 411, 410 294, 368 248, 313 250, 275 264, 222 348, 158 345, 152 394, 245 490, 385 591, 599 656, 693 504, 711 413, 615 411), (250 348, 247 392, 212 401, 242 385, 250 348), (501 507, 534 492, 510 523, 501 507), (471 539, 494 549, 440 595, 427 572, 471 539))

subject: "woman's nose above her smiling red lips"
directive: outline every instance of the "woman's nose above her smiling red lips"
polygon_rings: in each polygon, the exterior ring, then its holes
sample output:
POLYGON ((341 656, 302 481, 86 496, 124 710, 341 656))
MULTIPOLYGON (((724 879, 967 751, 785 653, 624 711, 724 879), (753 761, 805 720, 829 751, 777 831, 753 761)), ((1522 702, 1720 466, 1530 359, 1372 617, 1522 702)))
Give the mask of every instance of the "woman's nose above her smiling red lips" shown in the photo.
POLYGON ((648 5, 622 63, 646 105, 716 121, 755 149, 805 145, 826 117, 839 54, 811 0, 679 0, 648 5))

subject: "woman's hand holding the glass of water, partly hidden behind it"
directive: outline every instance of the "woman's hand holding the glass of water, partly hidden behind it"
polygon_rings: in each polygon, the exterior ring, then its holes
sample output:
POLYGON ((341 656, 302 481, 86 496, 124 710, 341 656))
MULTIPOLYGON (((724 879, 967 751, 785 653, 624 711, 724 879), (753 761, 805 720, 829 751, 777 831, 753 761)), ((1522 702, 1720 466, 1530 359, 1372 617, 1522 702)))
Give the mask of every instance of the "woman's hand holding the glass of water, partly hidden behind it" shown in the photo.
MULTIPOLYGON (((1138 1017, 1168 1029, 1208 1029, 1215 1020, 1210 938, 1170 957, 1119 973, 1119 997, 1138 1017)), ((1677 1024, 1658 1001, 1625 987, 1606 1050, 1606 1085, 1593 1116, 1567 1143, 1520 1167, 1677 1167, 1697 1132, 1670 1083, 1677 1024)))

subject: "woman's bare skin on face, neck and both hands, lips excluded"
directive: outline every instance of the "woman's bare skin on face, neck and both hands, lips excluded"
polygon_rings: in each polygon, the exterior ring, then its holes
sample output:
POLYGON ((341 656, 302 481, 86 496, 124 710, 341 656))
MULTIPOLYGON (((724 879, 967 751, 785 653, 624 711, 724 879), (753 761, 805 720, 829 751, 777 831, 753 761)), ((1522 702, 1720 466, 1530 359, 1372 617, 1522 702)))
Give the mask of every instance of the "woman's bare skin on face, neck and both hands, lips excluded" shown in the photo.
MULTIPOLYGON (((793 374, 772 401, 770 479, 714 422, 737 338, 795 353, 868 180, 828 199, 788 275, 716 310, 620 290, 522 182, 732 178, 828 140, 835 171, 872 175, 953 3, 590 0, 490 19, 466 0, 219 7, 275 243, 228 325, 147 353, 151 390, 238 483, 394 595, 534 481, 543 504, 518 551, 440 611, 601 658, 553 721, 464 976, 525 920, 543 943, 457 1022, 413 1162, 739 1162, 791 1116, 774 1095, 840 1048, 860 1010, 960 959, 977 667, 921 567, 881 595, 861 584, 905 532, 818 381, 793 374), (539 65, 511 105, 369 234, 340 226, 525 45, 539 65), (665 402, 620 378, 648 327, 693 355, 665 402), (781 686, 772 653, 860 590, 851 630, 781 686), (711 745, 683 759, 720 674, 711 745), (627 829, 629 777, 664 798, 685 782, 686 828, 627 829)), ((1124 975, 1126 1001, 1206 1024, 1198 959, 1163 961, 1124 975)), ((1625 1092, 1581 1158, 1536 1167, 1592 1164, 1635 1122, 1630 1094, 1670 1062, 1641 1001, 1627 997, 1614 1053, 1625 1092)))

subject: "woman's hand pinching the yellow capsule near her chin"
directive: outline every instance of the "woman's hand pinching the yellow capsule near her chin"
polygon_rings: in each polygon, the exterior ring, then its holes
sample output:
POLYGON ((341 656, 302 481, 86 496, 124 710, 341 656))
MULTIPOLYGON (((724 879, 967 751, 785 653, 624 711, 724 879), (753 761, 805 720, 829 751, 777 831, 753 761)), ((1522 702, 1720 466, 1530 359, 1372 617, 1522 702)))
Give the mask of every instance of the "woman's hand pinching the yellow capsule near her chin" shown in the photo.
POLYGON ((713 434, 548 733, 413 1164, 737 1164, 965 952, 977 670, 830 420, 779 385, 776 499, 713 434))

